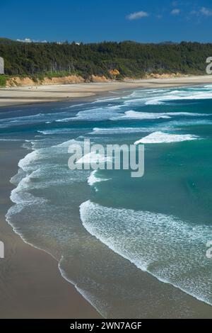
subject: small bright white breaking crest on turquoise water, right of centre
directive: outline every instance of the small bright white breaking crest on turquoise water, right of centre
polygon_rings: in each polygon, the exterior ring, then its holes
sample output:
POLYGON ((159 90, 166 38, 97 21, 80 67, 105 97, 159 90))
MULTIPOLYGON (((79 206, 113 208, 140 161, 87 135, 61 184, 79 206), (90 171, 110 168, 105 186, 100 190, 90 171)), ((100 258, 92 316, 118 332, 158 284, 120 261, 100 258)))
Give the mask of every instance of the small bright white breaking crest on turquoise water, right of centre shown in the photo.
POLYGON ((182 142, 189 140, 196 140, 199 137, 190 134, 168 134, 163 132, 153 132, 143 139, 134 142, 134 145, 139 143, 170 143, 170 142, 182 142))

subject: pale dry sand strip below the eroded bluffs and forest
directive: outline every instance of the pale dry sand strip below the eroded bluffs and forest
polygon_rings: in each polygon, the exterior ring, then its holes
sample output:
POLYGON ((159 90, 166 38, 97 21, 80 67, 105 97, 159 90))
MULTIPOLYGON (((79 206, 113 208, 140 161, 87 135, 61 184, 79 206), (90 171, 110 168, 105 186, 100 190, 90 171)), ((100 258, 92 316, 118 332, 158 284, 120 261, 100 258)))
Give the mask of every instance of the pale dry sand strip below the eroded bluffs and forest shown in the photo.
POLYGON ((120 89, 169 88, 194 84, 212 84, 212 76, 175 77, 168 79, 141 79, 104 83, 66 84, 51 86, 20 86, 0 89, 0 107, 19 104, 73 101, 79 98, 98 97, 120 89))

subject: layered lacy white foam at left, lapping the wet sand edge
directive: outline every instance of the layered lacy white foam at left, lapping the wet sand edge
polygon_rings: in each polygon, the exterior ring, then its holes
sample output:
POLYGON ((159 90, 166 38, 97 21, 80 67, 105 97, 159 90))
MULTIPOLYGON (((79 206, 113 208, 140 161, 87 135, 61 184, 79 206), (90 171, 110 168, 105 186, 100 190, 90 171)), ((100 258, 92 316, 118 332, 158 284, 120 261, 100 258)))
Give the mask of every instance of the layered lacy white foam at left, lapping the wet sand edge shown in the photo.
POLYGON ((35 197, 31 193, 35 189, 81 181, 83 176, 81 172, 67 169, 59 159, 59 157, 61 160, 65 158, 68 161, 68 147, 76 143, 82 144, 80 141, 69 140, 52 147, 35 149, 20 159, 18 174, 11 178, 11 183, 16 185, 16 188, 11 192, 11 201, 19 205, 17 207, 19 210, 24 205, 45 202, 44 198, 35 197), (52 164, 53 156, 55 158, 54 164, 52 164))

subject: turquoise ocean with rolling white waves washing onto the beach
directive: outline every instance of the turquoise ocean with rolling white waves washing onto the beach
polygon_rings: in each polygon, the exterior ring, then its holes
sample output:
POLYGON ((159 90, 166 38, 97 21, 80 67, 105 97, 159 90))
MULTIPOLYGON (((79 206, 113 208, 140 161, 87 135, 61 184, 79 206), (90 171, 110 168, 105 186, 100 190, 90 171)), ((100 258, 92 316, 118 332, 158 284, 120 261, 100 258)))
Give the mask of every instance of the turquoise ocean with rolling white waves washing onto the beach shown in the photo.
POLYGON ((0 140, 25 148, 6 219, 104 317, 145 316, 168 297, 184 313, 184 293, 212 305, 211 129, 212 85, 2 109, 0 140), (69 146, 84 139, 143 143, 144 176, 71 171, 69 146), (145 310, 143 272, 153 278, 145 310))

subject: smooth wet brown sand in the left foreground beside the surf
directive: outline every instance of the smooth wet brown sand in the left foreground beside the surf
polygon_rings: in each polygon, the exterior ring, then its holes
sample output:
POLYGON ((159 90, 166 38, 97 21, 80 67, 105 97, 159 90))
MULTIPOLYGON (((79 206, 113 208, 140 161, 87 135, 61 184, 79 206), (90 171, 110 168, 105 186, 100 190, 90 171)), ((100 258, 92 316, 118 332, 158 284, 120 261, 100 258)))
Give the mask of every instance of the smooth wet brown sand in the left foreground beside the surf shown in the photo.
POLYGON ((10 194, 14 186, 10 179, 17 173, 17 164, 25 156, 25 149, 20 148, 20 142, 0 142, 0 151, 4 161, 0 235, 5 245, 5 259, 0 259, 0 318, 100 318, 76 286, 61 276, 58 261, 25 242, 6 221, 6 212, 13 205, 10 194))

